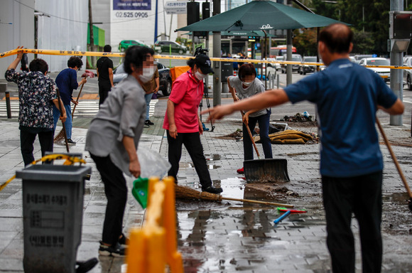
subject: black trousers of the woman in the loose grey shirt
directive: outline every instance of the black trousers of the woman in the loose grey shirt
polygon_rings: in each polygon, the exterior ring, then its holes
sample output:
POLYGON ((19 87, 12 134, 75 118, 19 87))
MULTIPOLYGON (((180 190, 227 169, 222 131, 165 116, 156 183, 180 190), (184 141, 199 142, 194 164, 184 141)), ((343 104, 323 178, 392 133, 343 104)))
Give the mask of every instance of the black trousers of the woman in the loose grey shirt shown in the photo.
POLYGON ((123 172, 117 168, 110 156, 100 157, 90 154, 97 170, 102 176, 104 193, 107 197, 106 215, 104 215, 102 241, 109 245, 118 242, 123 230, 124 208, 127 201, 127 186, 123 172))

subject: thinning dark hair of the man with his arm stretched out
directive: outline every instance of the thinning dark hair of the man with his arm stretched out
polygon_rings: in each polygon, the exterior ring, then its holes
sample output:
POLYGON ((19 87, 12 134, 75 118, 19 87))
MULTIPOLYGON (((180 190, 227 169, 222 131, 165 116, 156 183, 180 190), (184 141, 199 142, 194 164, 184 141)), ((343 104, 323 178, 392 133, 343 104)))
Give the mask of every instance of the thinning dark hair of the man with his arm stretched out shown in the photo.
POLYGON ((325 43, 330 53, 349 53, 353 31, 343 23, 332 23, 319 33, 319 41, 325 43))

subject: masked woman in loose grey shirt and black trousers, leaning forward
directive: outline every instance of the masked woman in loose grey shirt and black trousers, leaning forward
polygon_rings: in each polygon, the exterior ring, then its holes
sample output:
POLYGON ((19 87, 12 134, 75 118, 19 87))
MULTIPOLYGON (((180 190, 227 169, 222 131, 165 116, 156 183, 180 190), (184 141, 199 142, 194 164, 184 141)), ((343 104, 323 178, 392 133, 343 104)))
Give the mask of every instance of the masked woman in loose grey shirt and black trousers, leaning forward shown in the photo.
POLYGON ((146 119, 141 86, 153 76, 153 54, 153 49, 137 45, 126 50, 124 70, 129 75, 109 92, 87 131, 85 150, 102 176, 107 197, 99 255, 124 256, 127 186, 123 173, 134 177, 141 173, 136 154, 146 119))

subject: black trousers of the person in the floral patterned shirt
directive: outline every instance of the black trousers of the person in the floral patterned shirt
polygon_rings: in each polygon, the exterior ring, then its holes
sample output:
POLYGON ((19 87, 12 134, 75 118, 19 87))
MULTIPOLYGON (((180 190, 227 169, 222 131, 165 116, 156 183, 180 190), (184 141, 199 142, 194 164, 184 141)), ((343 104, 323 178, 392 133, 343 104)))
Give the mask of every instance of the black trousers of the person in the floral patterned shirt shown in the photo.
POLYGON ((38 133, 20 130, 20 149, 21 155, 23 156, 24 166, 27 166, 34 161, 33 144, 36 140, 36 136, 38 136, 38 141, 40 142, 41 156, 45 156, 46 151, 53 151, 53 130, 38 133))

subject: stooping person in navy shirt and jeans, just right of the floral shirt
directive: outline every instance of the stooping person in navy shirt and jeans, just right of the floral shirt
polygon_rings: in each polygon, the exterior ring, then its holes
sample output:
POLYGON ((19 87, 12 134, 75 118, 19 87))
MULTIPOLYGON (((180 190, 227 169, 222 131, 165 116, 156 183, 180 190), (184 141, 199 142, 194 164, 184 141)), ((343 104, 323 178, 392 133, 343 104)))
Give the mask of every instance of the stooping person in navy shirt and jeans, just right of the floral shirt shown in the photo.
MULTIPOLYGON (((70 59, 67 61, 67 66, 69 68, 62 70, 55 80, 56 85, 58 86, 60 91, 60 98, 62 99, 63 105, 66 109, 67 119, 65 121, 65 128, 68 144, 76 144, 75 141, 72 141, 72 109, 70 107, 70 102, 73 102, 75 105, 77 105, 77 102, 73 100, 72 97, 73 90, 77 89, 79 85, 87 82, 85 77, 83 77, 80 82, 77 82, 76 71, 80 70, 80 68, 82 68, 82 65, 82 59, 75 56, 70 57, 70 59)), ((60 111, 53 105, 54 129, 56 129, 59 117, 60 111)))

